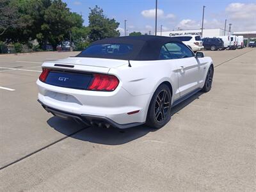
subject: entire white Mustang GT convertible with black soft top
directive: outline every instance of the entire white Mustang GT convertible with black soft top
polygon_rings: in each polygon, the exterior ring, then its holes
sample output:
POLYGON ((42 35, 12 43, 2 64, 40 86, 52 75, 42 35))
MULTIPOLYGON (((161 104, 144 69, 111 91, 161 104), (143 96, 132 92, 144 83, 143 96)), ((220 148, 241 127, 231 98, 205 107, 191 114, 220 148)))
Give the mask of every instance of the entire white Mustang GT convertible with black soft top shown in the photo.
POLYGON ((38 101, 46 111, 93 126, 163 127, 171 107, 211 90, 213 64, 202 52, 164 36, 94 42, 74 57, 46 61, 38 101))

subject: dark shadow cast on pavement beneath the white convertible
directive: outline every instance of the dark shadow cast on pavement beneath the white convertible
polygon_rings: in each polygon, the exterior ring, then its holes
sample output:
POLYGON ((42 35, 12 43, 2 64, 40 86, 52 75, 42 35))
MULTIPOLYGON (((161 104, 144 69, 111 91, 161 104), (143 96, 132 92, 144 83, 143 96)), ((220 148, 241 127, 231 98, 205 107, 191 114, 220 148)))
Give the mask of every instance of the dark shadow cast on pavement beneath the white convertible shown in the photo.
MULTIPOLYGON (((188 104, 193 102, 193 100, 199 99, 200 95, 202 95, 202 92, 196 93, 189 97, 189 99, 186 99, 173 107, 171 116, 175 113, 179 113, 180 110, 188 106, 188 104)), ((70 136, 71 138, 103 145, 122 145, 141 138, 148 134, 148 132, 157 131, 157 129, 152 129, 146 125, 131 127, 129 129, 117 129, 114 127, 109 127, 108 129, 104 127, 85 127, 83 124, 78 124, 73 120, 63 120, 56 116, 49 118, 49 120, 47 120, 47 124, 56 131, 61 132, 66 136, 70 136), (76 132, 76 134, 70 135, 70 132, 76 132)), ((162 129, 164 129, 164 127, 162 129)))

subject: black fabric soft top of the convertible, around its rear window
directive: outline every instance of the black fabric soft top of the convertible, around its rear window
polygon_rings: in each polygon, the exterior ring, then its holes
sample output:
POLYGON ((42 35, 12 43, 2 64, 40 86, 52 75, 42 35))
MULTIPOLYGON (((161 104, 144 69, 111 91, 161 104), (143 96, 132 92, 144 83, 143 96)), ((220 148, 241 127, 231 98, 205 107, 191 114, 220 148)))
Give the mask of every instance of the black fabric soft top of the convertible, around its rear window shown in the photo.
POLYGON ((158 60, 161 47, 169 42, 180 42, 175 38, 168 36, 153 36, 153 35, 141 35, 141 36, 120 36, 113 38, 105 38, 93 42, 92 45, 97 44, 130 44, 133 49, 128 54, 124 55, 88 55, 83 54, 82 52, 77 55, 77 57, 86 57, 86 58, 109 58, 116 60, 139 60, 139 61, 148 61, 148 60, 158 60))

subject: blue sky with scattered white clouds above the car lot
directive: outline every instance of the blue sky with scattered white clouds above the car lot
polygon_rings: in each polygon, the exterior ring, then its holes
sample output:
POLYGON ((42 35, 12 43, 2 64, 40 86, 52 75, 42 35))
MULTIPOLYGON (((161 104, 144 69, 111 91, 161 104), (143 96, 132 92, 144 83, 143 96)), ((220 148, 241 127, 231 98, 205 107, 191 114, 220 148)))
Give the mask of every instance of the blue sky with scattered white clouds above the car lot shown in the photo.
MULTIPOLYGON (((88 25, 89 8, 99 6, 109 19, 120 22, 118 30, 124 35, 124 20, 128 33, 140 31, 154 34, 156 0, 63 0, 72 12, 83 15, 88 25)), ((232 31, 256 31, 256 1, 229 0, 158 0, 157 31, 200 29, 205 7, 204 28, 225 28, 225 19, 232 31)))

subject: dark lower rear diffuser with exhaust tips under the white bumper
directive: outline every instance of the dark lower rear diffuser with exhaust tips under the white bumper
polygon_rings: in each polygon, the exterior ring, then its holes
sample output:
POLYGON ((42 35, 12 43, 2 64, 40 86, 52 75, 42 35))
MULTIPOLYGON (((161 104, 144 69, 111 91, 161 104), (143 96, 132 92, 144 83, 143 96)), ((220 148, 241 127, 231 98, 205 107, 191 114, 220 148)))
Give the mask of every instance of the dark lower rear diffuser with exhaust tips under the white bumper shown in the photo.
MULTIPOLYGON (((40 100, 38 99, 38 102, 40 100)), ((60 111, 58 109, 50 108, 49 106, 45 106, 42 102, 42 107, 47 111, 48 113, 52 113, 54 116, 58 116, 64 119, 72 119, 75 120, 78 123, 82 123, 84 125, 88 126, 97 126, 97 127, 116 127, 118 129, 127 129, 129 127, 136 127, 138 125, 142 125, 143 123, 131 123, 131 124, 117 124, 113 120, 107 118, 106 116, 97 116, 97 115, 77 115, 74 113, 67 113, 66 111, 60 111)))

